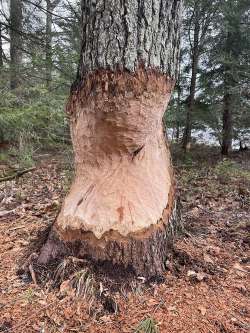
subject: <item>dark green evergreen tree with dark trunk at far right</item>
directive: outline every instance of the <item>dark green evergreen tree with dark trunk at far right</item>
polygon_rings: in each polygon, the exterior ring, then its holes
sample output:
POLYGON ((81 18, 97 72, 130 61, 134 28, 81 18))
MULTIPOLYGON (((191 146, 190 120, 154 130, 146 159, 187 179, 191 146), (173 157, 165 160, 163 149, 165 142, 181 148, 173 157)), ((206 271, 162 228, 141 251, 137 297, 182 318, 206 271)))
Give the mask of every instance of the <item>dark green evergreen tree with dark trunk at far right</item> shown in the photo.
POLYGON ((242 124, 249 124, 249 116, 244 116, 246 98, 242 91, 249 85, 250 31, 247 13, 250 6, 244 0, 224 1, 220 6, 202 80, 205 82, 205 94, 213 96, 212 104, 217 101, 220 105, 221 152, 228 155, 232 139, 239 134, 239 129, 235 128, 236 118, 238 121, 242 119, 242 124))

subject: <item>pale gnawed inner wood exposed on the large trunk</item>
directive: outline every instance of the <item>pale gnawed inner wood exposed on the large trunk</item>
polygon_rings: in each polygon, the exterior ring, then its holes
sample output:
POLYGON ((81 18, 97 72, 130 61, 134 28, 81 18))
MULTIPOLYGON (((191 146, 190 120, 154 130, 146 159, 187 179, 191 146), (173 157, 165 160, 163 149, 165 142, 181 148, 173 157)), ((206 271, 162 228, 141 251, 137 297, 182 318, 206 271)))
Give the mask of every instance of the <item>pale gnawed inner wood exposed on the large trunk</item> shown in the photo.
POLYGON ((172 184, 162 130, 169 90, 147 86, 137 96, 113 97, 102 91, 74 103, 76 177, 57 219, 61 232, 126 236, 161 219, 172 184))

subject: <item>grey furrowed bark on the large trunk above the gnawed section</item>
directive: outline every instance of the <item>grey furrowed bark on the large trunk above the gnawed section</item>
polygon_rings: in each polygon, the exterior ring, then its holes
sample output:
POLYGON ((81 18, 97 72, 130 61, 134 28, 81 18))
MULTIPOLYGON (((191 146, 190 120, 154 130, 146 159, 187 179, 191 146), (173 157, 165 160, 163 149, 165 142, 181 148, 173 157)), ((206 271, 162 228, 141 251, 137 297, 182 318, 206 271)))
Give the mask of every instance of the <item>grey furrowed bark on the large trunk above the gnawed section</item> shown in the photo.
POLYGON ((176 75, 180 0, 83 0, 78 79, 97 69, 176 75))

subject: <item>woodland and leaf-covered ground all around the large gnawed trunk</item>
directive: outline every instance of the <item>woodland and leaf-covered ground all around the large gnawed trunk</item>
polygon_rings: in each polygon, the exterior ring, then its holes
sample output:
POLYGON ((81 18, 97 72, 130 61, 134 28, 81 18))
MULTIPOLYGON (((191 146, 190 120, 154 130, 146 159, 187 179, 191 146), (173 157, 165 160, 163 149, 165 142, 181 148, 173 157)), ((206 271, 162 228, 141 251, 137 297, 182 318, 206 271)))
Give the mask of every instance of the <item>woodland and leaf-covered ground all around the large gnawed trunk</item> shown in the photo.
POLYGON ((178 80, 164 117, 184 230, 164 279, 116 285, 68 260, 36 283, 18 268, 44 241, 73 176, 64 109, 80 4, 0 0, 0 331, 248 332, 249 14, 246 0, 184 3, 178 80), (93 290, 109 301, 93 299, 93 290))

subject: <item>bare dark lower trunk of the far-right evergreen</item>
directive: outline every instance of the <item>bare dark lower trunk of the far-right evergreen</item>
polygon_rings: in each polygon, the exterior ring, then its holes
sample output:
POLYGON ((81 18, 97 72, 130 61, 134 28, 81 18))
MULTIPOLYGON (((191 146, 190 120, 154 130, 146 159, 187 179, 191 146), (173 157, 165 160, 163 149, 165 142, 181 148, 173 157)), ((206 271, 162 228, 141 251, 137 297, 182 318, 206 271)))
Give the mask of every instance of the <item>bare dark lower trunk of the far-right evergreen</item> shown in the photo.
POLYGON ((223 131, 222 131, 222 155, 228 155, 232 148, 232 112, 231 105, 232 99, 230 93, 226 93, 224 96, 224 109, 223 109, 223 131))

